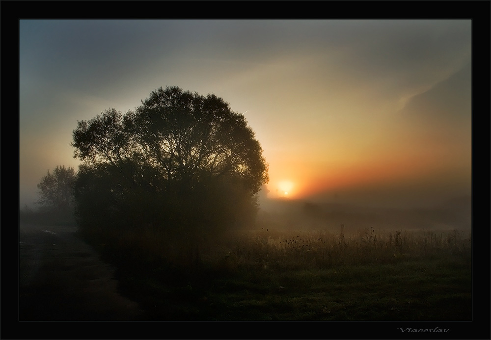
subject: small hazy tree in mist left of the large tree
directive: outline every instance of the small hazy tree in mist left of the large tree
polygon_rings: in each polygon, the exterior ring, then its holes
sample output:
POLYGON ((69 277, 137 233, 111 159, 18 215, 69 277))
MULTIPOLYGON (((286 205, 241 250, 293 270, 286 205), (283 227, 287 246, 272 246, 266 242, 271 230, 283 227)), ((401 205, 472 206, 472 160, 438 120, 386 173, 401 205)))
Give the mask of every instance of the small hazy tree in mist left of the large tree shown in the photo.
POLYGON ((74 168, 56 165, 53 173, 48 173, 37 184, 40 199, 38 204, 43 209, 55 212, 69 212, 73 208, 74 168))

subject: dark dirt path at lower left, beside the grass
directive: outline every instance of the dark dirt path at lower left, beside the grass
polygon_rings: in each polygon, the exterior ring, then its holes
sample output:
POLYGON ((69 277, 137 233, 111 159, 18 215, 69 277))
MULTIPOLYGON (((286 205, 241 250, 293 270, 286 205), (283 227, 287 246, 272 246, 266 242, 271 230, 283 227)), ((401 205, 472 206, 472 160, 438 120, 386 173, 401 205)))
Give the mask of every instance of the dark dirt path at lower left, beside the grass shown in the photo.
POLYGON ((144 319, 76 227, 21 224, 19 254, 21 321, 144 319))

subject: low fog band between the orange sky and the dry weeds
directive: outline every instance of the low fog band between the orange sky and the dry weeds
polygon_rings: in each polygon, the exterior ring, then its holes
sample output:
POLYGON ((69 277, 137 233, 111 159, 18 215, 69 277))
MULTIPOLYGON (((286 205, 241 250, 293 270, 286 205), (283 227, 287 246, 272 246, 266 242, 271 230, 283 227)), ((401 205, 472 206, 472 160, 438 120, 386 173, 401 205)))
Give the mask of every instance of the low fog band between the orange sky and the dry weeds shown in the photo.
POLYGON ((471 230, 471 196, 454 197, 426 207, 383 207, 314 200, 262 197, 256 219, 259 230, 346 233, 365 228, 394 230, 471 230))

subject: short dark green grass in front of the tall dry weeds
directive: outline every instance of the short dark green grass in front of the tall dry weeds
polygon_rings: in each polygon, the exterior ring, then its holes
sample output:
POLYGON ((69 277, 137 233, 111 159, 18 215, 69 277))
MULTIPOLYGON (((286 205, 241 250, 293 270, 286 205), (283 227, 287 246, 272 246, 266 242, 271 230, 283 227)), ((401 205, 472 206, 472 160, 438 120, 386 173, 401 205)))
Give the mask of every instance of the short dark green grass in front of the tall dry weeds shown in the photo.
POLYGON ((155 320, 470 319, 470 270, 455 263, 237 270, 174 285, 120 274, 123 291, 155 320))

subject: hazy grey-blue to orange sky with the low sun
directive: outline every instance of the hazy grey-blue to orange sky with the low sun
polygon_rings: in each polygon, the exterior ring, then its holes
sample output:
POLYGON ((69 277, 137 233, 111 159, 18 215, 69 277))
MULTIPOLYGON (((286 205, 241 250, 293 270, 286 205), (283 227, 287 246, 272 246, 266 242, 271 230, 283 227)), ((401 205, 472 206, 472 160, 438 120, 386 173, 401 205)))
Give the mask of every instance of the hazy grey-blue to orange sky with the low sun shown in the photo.
POLYGON ((20 206, 77 169, 77 121, 166 86, 244 113, 270 198, 471 194, 471 20, 20 20, 20 206))

